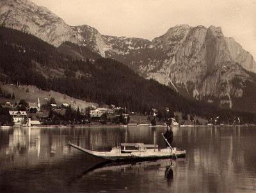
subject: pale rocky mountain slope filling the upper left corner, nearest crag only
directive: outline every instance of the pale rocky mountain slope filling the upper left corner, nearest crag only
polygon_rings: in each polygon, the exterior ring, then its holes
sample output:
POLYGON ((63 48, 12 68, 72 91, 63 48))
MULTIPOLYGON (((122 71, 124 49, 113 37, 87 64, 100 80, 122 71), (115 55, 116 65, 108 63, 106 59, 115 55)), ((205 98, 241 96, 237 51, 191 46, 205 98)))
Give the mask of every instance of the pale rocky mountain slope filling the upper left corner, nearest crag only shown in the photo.
POLYGON ((69 40, 72 34, 60 17, 27 0, 0 1, 0 24, 33 34, 54 46, 69 40))

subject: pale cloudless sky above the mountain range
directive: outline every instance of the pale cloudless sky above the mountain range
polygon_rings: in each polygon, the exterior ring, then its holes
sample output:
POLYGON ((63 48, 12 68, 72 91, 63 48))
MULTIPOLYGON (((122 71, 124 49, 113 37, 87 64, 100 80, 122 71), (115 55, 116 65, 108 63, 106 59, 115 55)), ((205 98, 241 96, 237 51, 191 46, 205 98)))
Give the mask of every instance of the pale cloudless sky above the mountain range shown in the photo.
POLYGON ((100 34, 152 40, 170 27, 221 27, 256 60, 256 0, 31 0, 68 25, 100 34))

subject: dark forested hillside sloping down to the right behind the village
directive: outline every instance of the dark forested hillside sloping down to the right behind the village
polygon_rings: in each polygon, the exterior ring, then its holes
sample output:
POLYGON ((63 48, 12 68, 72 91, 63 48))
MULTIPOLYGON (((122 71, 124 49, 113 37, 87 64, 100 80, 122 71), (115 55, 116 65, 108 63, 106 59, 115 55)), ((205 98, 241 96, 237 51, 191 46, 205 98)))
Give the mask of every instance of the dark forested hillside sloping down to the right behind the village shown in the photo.
MULTIPOLYGON (((81 47, 81 50, 86 52, 86 48, 81 47)), ((220 116, 221 122, 234 117, 239 117, 243 123, 255 122, 253 113, 189 101, 155 80, 145 80, 120 62, 101 58, 92 51, 87 57, 84 61, 74 59, 35 36, 0 27, 2 82, 35 85, 43 90, 54 90, 86 101, 115 104, 140 113, 168 107, 171 111, 205 118, 220 116)))

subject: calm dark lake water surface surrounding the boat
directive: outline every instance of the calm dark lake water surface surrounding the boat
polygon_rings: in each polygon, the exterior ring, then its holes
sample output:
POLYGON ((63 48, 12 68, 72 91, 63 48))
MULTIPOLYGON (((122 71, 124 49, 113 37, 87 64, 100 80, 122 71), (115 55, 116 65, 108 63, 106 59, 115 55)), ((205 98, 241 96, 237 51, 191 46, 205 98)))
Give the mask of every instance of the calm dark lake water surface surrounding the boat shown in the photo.
POLYGON ((185 159, 109 163, 68 147, 164 148, 165 127, 0 129, 0 192, 256 192, 256 127, 173 127, 185 159))

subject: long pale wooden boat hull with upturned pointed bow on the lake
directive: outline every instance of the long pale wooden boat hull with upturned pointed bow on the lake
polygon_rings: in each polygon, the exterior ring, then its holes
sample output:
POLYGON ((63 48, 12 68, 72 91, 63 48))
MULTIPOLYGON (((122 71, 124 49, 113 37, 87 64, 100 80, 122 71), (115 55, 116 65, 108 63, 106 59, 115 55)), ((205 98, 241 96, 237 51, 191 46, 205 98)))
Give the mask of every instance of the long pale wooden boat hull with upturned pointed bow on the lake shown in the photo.
POLYGON ((166 159, 166 158, 177 158, 185 157, 186 150, 179 150, 177 148, 165 148, 162 150, 151 150, 151 151, 136 151, 122 153, 120 148, 111 150, 110 152, 96 152, 92 150, 87 150, 85 148, 74 145, 73 143, 68 143, 71 147, 77 148, 86 154, 93 155, 95 157, 100 157, 104 159, 109 159, 113 161, 133 161, 133 160, 153 160, 153 159, 166 159))

